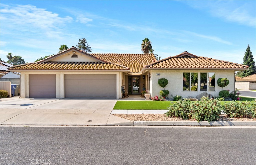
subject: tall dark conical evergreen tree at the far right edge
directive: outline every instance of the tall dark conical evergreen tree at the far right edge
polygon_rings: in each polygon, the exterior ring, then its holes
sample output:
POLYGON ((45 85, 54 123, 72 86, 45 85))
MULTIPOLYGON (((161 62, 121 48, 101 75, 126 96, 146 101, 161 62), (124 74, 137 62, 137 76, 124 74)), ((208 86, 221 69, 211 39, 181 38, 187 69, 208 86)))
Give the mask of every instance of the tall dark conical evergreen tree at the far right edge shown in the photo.
POLYGON ((256 74, 255 61, 254 61, 254 58, 252 56, 250 45, 248 45, 246 51, 244 52, 243 65, 249 66, 249 70, 243 71, 242 73, 238 74, 238 76, 247 77, 247 76, 256 74))

